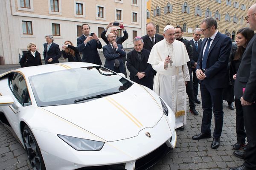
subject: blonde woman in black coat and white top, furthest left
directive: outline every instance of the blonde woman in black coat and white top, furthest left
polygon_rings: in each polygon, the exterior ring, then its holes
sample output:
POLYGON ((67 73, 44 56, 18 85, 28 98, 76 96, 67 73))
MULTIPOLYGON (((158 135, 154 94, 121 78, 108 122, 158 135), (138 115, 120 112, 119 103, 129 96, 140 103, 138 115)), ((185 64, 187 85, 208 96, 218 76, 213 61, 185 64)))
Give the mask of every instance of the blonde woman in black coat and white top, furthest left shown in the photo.
POLYGON ((42 65, 41 54, 36 51, 36 45, 33 42, 30 42, 27 46, 28 51, 23 54, 20 59, 21 67, 29 67, 42 65))

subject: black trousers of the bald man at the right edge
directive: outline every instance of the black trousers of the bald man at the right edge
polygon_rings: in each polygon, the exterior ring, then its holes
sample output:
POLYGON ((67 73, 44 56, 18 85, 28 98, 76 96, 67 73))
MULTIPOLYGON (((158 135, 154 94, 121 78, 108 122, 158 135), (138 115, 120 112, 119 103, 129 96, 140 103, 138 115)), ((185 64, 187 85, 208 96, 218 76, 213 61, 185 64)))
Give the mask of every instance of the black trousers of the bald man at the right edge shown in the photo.
POLYGON ((244 166, 256 170, 256 103, 243 106, 244 125, 248 144, 246 146, 244 166))

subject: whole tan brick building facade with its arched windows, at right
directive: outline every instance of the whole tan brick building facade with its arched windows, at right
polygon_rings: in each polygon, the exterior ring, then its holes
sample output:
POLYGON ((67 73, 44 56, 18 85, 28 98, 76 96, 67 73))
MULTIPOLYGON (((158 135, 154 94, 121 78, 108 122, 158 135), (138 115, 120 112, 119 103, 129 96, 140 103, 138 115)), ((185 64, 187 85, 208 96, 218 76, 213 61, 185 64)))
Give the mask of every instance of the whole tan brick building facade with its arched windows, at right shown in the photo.
POLYGON ((168 24, 179 25, 184 29, 183 37, 190 40, 201 21, 212 16, 218 21, 218 31, 230 32, 234 39, 240 28, 247 27, 247 10, 254 3, 256 0, 151 0, 150 19, 160 34, 168 24))

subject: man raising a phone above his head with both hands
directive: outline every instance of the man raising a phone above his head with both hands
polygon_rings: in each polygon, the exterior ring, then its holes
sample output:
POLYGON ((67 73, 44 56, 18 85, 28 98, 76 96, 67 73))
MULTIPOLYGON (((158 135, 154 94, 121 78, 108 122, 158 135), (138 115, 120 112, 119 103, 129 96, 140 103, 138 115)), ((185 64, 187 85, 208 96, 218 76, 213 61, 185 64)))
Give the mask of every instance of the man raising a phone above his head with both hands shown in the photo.
MULTIPOLYGON (((110 28, 110 33, 113 33, 115 34, 116 36, 116 43, 117 44, 120 44, 122 45, 122 43, 128 39, 128 33, 127 31, 125 30, 125 27, 123 26, 122 23, 117 23, 117 22, 111 22, 108 24, 108 26, 106 26, 106 28, 102 31, 102 34, 101 34, 101 38, 102 40, 104 40, 104 42, 106 42, 106 44, 108 45, 108 38, 106 37, 106 33, 108 31, 108 28, 110 28), (117 36, 118 34, 118 31, 117 31, 117 28, 115 26, 119 26, 120 28, 122 28, 122 31, 124 33, 124 36, 117 36)), ((125 57, 122 57, 122 60, 123 60, 123 63, 125 65, 125 61, 127 61, 126 59, 126 56, 125 57)), ((124 68, 124 74, 125 74, 125 77, 127 77, 127 73, 126 73, 126 67, 124 68)))

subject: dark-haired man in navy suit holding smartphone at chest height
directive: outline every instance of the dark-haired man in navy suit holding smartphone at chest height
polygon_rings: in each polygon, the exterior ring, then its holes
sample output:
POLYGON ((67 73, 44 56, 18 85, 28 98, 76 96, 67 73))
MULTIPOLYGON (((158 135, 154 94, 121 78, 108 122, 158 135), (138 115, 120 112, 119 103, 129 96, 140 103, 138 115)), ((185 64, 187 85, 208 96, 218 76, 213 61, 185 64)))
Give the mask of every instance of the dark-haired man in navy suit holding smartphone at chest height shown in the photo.
POLYGON ((79 52, 83 53, 82 62, 90 62, 97 65, 102 65, 99 57, 98 49, 102 48, 97 35, 90 34, 90 26, 88 24, 82 25, 83 34, 77 39, 77 47, 79 52))

